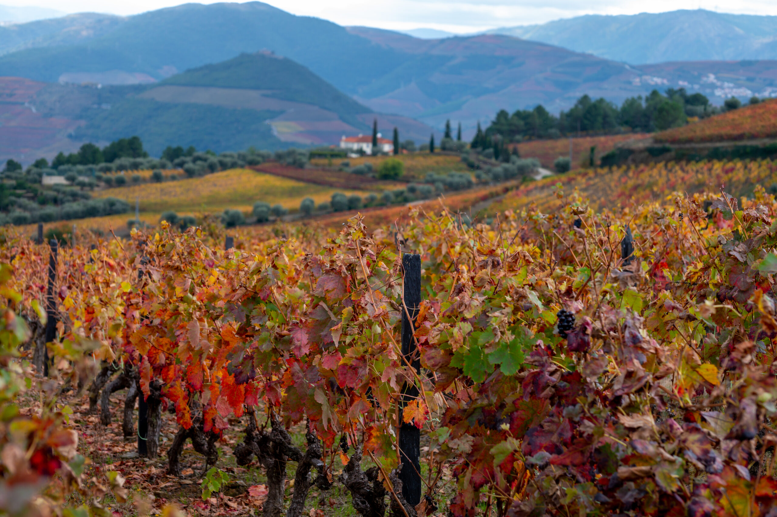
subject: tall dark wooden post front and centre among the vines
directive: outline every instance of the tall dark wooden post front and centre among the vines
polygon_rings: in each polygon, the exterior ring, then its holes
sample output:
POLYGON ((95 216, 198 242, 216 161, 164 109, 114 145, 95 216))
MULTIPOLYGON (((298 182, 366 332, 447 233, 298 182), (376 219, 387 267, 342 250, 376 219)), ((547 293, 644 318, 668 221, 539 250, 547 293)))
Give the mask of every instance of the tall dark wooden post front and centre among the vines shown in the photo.
MULTIPOLYGON (((404 300, 407 311, 402 310, 402 355, 407 362, 420 371, 420 358, 413 337, 418 309, 421 305, 421 256, 413 253, 402 254, 402 270, 404 275, 404 300), (408 313, 410 319, 408 319, 408 313)), ((415 383, 406 384, 402 388, 402 407, 419 395, 415 383)), ((402 495, 411 506, 421 501, 421 466, 420 466, 420 429, 413 422, 401 422, 399 428, 399 454, 402 471, 402 495)))

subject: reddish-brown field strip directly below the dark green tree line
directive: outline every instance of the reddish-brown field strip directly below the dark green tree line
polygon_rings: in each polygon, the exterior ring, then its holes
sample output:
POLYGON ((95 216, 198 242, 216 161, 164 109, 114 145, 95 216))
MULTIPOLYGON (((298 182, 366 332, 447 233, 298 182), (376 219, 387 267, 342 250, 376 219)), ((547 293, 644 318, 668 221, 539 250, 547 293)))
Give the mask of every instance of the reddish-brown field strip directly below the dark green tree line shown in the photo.
MULTIPOLYGON (((591 147, 596 145, 596 159, 615 148, 615 144, 621 141, 639 140, 649 134, 607 134, 605 136, 593 136, 572 139, 572 168, 580 168, 581 162, 587 164, 591 147)), ((546 169, 553 169, 553 161, 559 156, 570 155, 570 139, 557 138, 556 140, 530 140, 511 147, 518 148, 522 158, 536 158, 546 169)))

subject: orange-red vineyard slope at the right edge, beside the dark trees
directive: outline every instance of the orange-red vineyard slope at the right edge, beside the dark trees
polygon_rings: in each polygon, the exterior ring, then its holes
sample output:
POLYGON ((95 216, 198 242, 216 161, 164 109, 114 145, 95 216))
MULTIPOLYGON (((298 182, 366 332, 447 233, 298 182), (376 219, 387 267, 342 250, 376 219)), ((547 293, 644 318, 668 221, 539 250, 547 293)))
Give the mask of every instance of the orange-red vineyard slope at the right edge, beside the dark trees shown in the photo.
POLYGON ((661 131, 655 134, 653 139, 669 144, 685 144, 775 137, 777 137, 777 100, 765 100, 682 128, 661 131))

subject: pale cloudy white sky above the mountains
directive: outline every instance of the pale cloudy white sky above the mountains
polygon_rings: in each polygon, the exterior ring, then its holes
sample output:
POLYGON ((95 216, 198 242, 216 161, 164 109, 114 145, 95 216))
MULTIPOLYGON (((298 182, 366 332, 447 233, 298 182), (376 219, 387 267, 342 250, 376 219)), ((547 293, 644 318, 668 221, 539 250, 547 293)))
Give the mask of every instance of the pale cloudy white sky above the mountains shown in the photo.
MULTIPOLYGON (((545 23, 584 14, 637 14, 674 9, 708 9, 737 14, 777 15, 775 0, 266 0, 295 15, 316 16, 340 25, 391 30, 431 28, 470 33, 502 26, 545 23)), ((131 15, 179 5, 180 0, 0 0, 3 5, 36 6, 61 12, 131 15)), ((201 3, 214 3, 205 2, 201 3)))

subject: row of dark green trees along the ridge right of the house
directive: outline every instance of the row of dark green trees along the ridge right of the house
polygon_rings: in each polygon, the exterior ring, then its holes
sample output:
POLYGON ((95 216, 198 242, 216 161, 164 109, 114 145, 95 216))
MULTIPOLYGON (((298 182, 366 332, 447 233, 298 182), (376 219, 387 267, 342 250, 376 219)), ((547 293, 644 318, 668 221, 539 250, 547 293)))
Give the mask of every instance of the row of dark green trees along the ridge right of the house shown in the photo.
MULTIPOLYGON (((760 101, 754 97, 750 102, 760 101)), ((685 88, 670 88, 663 94, 654 89, 645 97, 629 97, 620 107, 604 98, 593 100, 584 95, 558 117, 542 104, 532 110, 516 110, 513 114, 500 110, 485 131, 478 124, 472 147, 493 147, 493 137, 497 135, 507 141, 521 141, 591 132, 663 131, 687 124, 688 119, 709 117, 721 111, 735 110, 740 105, 739 100, 732 98, 726 100, 722 108, 715 107, 702 93, 688 93, 685 88)))

